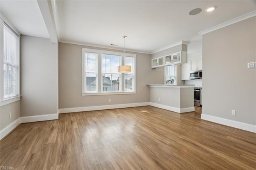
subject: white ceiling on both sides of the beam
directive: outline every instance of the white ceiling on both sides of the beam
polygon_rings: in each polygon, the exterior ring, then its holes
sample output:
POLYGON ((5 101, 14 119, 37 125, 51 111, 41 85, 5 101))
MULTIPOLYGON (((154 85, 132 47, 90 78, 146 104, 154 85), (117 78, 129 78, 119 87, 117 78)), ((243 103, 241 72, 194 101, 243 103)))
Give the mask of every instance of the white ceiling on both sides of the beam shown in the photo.
MULTIPOLYGON (((198 32, 256 10, 255 0, 52 0, 59 42, 152 53, 188 41, 202 52, 198 32), (53 6, 54 6, 53 4, 53 6), (205 12, 217 6, 213 12, 205 12), (195 16, 188 13, 202 8, 195 16), (111 46, 115 44, 117 46, 111 46)), ((0 0, 1 12, 24 35, 49 38, 36 0, 0 0)))

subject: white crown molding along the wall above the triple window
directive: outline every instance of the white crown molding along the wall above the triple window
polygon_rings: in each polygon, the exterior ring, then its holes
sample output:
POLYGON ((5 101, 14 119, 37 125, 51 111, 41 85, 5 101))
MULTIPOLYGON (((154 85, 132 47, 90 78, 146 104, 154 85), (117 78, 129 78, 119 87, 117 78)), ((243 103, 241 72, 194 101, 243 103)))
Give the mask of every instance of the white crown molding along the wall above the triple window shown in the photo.
MULTIPOLYGON (((104 45, 95 45, 95 44, 90 44, 90 43, 81 43, 81 42, 71 42, 71 41, 63 41, 60 40, 60 43, 70 43, 70 44, 76 44, 76 45, 84 45, 84 46, 89 46, 89 47, 97 47, 97 48, 104 48, 104 49, 114 49, 114 50, 118 50, 118 51, 124 51, 124 49, 122 48, 113 48, 113 47, 109 47, 109 46, 104 46, 104 45)), ((144 54, 151 54, 148 51, 136 51, 136 50, 132 50, 132 49, 125 49, 125 52, 134 52, 134 53, 144 53, 144 54)))

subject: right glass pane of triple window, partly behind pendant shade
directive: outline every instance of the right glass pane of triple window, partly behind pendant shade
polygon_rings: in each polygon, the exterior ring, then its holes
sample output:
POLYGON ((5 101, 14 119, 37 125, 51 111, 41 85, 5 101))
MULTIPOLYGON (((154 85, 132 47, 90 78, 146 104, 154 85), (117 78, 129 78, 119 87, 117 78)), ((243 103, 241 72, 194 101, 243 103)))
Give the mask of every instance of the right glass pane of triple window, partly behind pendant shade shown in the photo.
POLYGON ((132 72, 130 73, 124 73, 124 80, 125 80, 125 87, 124 91, 134 91, 135 87, 135 66, 134 66, 134 57, 124 57, 124 65, 130 65, 132 66, 132 72))

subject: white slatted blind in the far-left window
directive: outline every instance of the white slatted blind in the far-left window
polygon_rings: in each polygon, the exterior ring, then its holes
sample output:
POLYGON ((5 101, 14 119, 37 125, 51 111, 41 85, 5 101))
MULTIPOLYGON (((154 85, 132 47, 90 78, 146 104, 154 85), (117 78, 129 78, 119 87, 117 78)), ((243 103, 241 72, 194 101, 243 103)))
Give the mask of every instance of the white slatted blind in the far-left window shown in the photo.
POLYGON ((18 96, 18 35, 4 25, 4 99, 18 96))

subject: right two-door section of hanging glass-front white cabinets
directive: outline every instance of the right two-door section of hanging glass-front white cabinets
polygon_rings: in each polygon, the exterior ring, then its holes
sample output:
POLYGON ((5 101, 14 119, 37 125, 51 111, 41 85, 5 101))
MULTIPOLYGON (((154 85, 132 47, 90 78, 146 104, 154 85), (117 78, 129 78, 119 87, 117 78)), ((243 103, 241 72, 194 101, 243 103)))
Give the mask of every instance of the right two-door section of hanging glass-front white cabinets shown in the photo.
POLYGON ((187 51, 178 51, 164 56, 165 63, 164 65, 176 65, 180 63, 187 62, 187 51))

